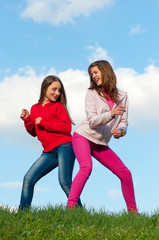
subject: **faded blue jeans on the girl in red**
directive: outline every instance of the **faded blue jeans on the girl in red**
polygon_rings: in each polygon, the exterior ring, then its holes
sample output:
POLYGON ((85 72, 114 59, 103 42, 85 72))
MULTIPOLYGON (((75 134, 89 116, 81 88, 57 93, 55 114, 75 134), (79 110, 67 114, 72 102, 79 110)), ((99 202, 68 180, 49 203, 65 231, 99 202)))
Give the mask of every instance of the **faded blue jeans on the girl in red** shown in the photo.
MULTIPOLYGON (((24 176, 19 208, 24 209, 31 205, 35 184, 57 166, 59 183, 68 197, 74 162, 75 155, 71 142, 61 144, 50 152, 43 152, 24 176)), ((78 203, 81 206, 80 200, 78 203)))

